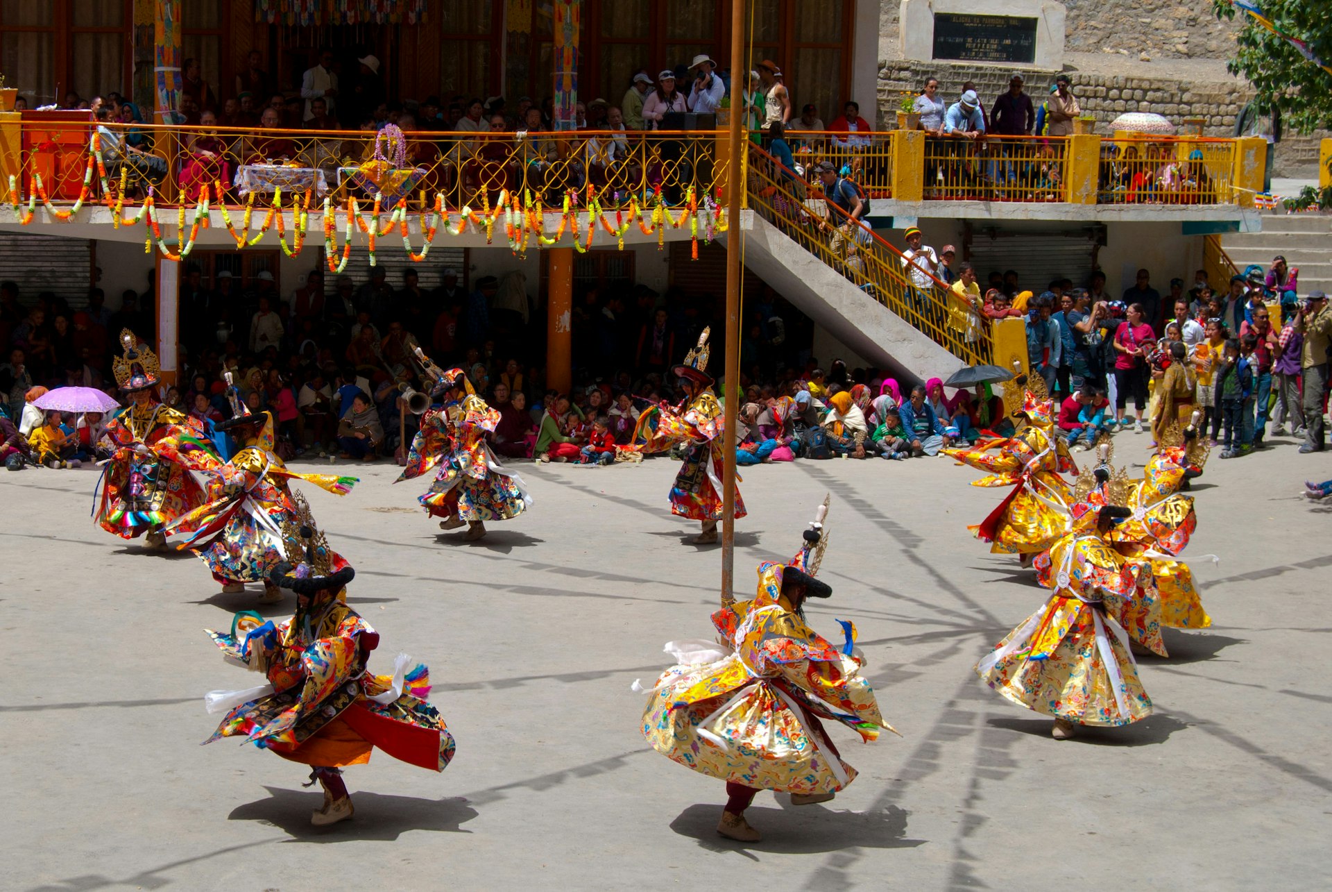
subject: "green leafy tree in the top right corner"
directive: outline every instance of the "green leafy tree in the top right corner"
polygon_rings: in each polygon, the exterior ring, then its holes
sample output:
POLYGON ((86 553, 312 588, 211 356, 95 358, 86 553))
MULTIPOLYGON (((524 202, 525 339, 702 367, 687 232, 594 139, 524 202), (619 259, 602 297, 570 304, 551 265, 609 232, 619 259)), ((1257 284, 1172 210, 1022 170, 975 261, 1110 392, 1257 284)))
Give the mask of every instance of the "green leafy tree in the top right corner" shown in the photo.
MULTIPOLYGON (((1328 0, 1257 0, 1255 5, 1277 31, 1303 40, 1313 56, 1332 64, 1328 0)), ((1228 68, 1253 84, 1260 112, 1269 112, 1277 101, 1287 127, 1301 133, 1332 128, 1332 75, 1284 37, 1237 11, 1229 0, 1212 0, 1212 9, 1217 19, 1240 15, 1245 23, 1228 68)))

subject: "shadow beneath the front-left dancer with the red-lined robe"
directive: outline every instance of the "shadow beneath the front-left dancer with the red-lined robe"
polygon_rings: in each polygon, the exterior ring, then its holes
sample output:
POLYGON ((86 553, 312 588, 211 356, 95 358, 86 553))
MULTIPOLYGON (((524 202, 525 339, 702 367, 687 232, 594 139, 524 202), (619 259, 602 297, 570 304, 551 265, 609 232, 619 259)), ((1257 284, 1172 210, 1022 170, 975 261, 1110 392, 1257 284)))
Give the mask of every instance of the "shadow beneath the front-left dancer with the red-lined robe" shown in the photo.
POLYGON ((432 831, 436 833, 470 833, 462 824, 477 816, 477 809, 462 797, 418 799, 384 793, 353 792, 352 820, 332 827, 310 824, 310 812, 324 803, 324 792, 266 787, 268 799, 238 805, 226 816, 232 821, 260 821, 278 828, 302 843, 344 843, 373 840, 392 843, 402 833, 432 831))

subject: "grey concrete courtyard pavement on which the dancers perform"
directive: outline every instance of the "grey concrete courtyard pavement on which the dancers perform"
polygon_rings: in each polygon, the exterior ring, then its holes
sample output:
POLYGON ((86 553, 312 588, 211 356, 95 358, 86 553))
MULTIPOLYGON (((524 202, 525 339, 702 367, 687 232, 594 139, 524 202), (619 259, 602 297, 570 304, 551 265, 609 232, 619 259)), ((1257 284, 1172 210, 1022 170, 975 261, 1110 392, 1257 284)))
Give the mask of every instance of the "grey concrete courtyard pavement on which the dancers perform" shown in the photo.
MULTIPOLYGON (((1146 435, 1124 433, 1139 465, 1146 435)), ((677 465, 521 467, 535 499, 476 544, 437 536, 397 468, 310 492, 357 568, 350 601, 430 665, 458 755, 432 775, 377 753, 346 771, 356 819, 308 823, 301 765, 200 747, 202 695, 252 683, 204 636, 253 593, 201 561, 127 547, 88 516, 95 472, 0 473, 4 888, 1014 888, 1325 884, 1329 509, 1297 497, 1329 455, 1291 445, 1221 461, 1195 487, 1185 559, 1215 627, 1143 660, 1156 713, 1059 743, 1050 720, 984 688, 975 660, 1043 600, 964 525, 1003 495, 944 459, 749 469, 737 580, 787 559, 825 492, 832 599, 854 619, 884 716, 904 739, 832 735, 860 777, 825 805, 761 793, 762 843, 714 832, 721 781, 638 733, 662 644, 709 637, 719 551, 667 513, 677 465), (1221 557, 1219 565, 1201 560, 1221 557)), ((300 465, 306 467, 306 465, 300 465)), ((309 469, 326 465, 309 465, 309 469)), ((317 788, 316 788, 317 789, 317 788)))

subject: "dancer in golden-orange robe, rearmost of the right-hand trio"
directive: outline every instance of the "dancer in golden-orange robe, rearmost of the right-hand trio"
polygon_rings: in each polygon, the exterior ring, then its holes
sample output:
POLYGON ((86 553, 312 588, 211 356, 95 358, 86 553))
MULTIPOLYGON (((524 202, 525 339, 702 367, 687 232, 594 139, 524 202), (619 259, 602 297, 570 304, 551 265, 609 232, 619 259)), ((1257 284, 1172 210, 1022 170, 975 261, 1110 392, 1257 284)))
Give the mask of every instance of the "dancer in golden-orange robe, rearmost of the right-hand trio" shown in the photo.
MULTIPOLYGON (((1022 377, 1015 381, 1016 387, 1024 383, 1022 377)), ((1062 475, 1076 473, 1078 467, 1068 445, 1055 432, 1054 404, 1046 399, 1039 375, 1011 413, 1019 423, 1024 421, 1011 437, 940 452, 990 472, 974 480, 974 487, 1012 487, 988 517, 967 529, 976 539, 991 543, 994 553, 1019 555, 1026 567, 1064 533, 1071 488, 1062 475)))

